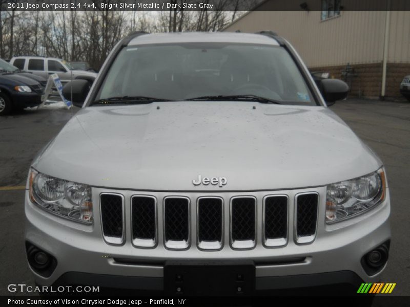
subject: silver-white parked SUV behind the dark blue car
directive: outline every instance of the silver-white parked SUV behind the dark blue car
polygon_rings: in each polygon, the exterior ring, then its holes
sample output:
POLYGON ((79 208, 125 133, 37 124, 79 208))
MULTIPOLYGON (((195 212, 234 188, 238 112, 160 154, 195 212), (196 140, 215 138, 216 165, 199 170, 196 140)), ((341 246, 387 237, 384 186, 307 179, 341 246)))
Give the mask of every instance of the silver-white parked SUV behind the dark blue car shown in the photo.
POLYGON ((95 73, 74 70, 68 62, 58 58, 17 56, 13 57, 10 63, 19 69, 32 72, 46 79, 51 74, 57 74, 63 84, 78 78, 94 81, 97 76, 95 73))

